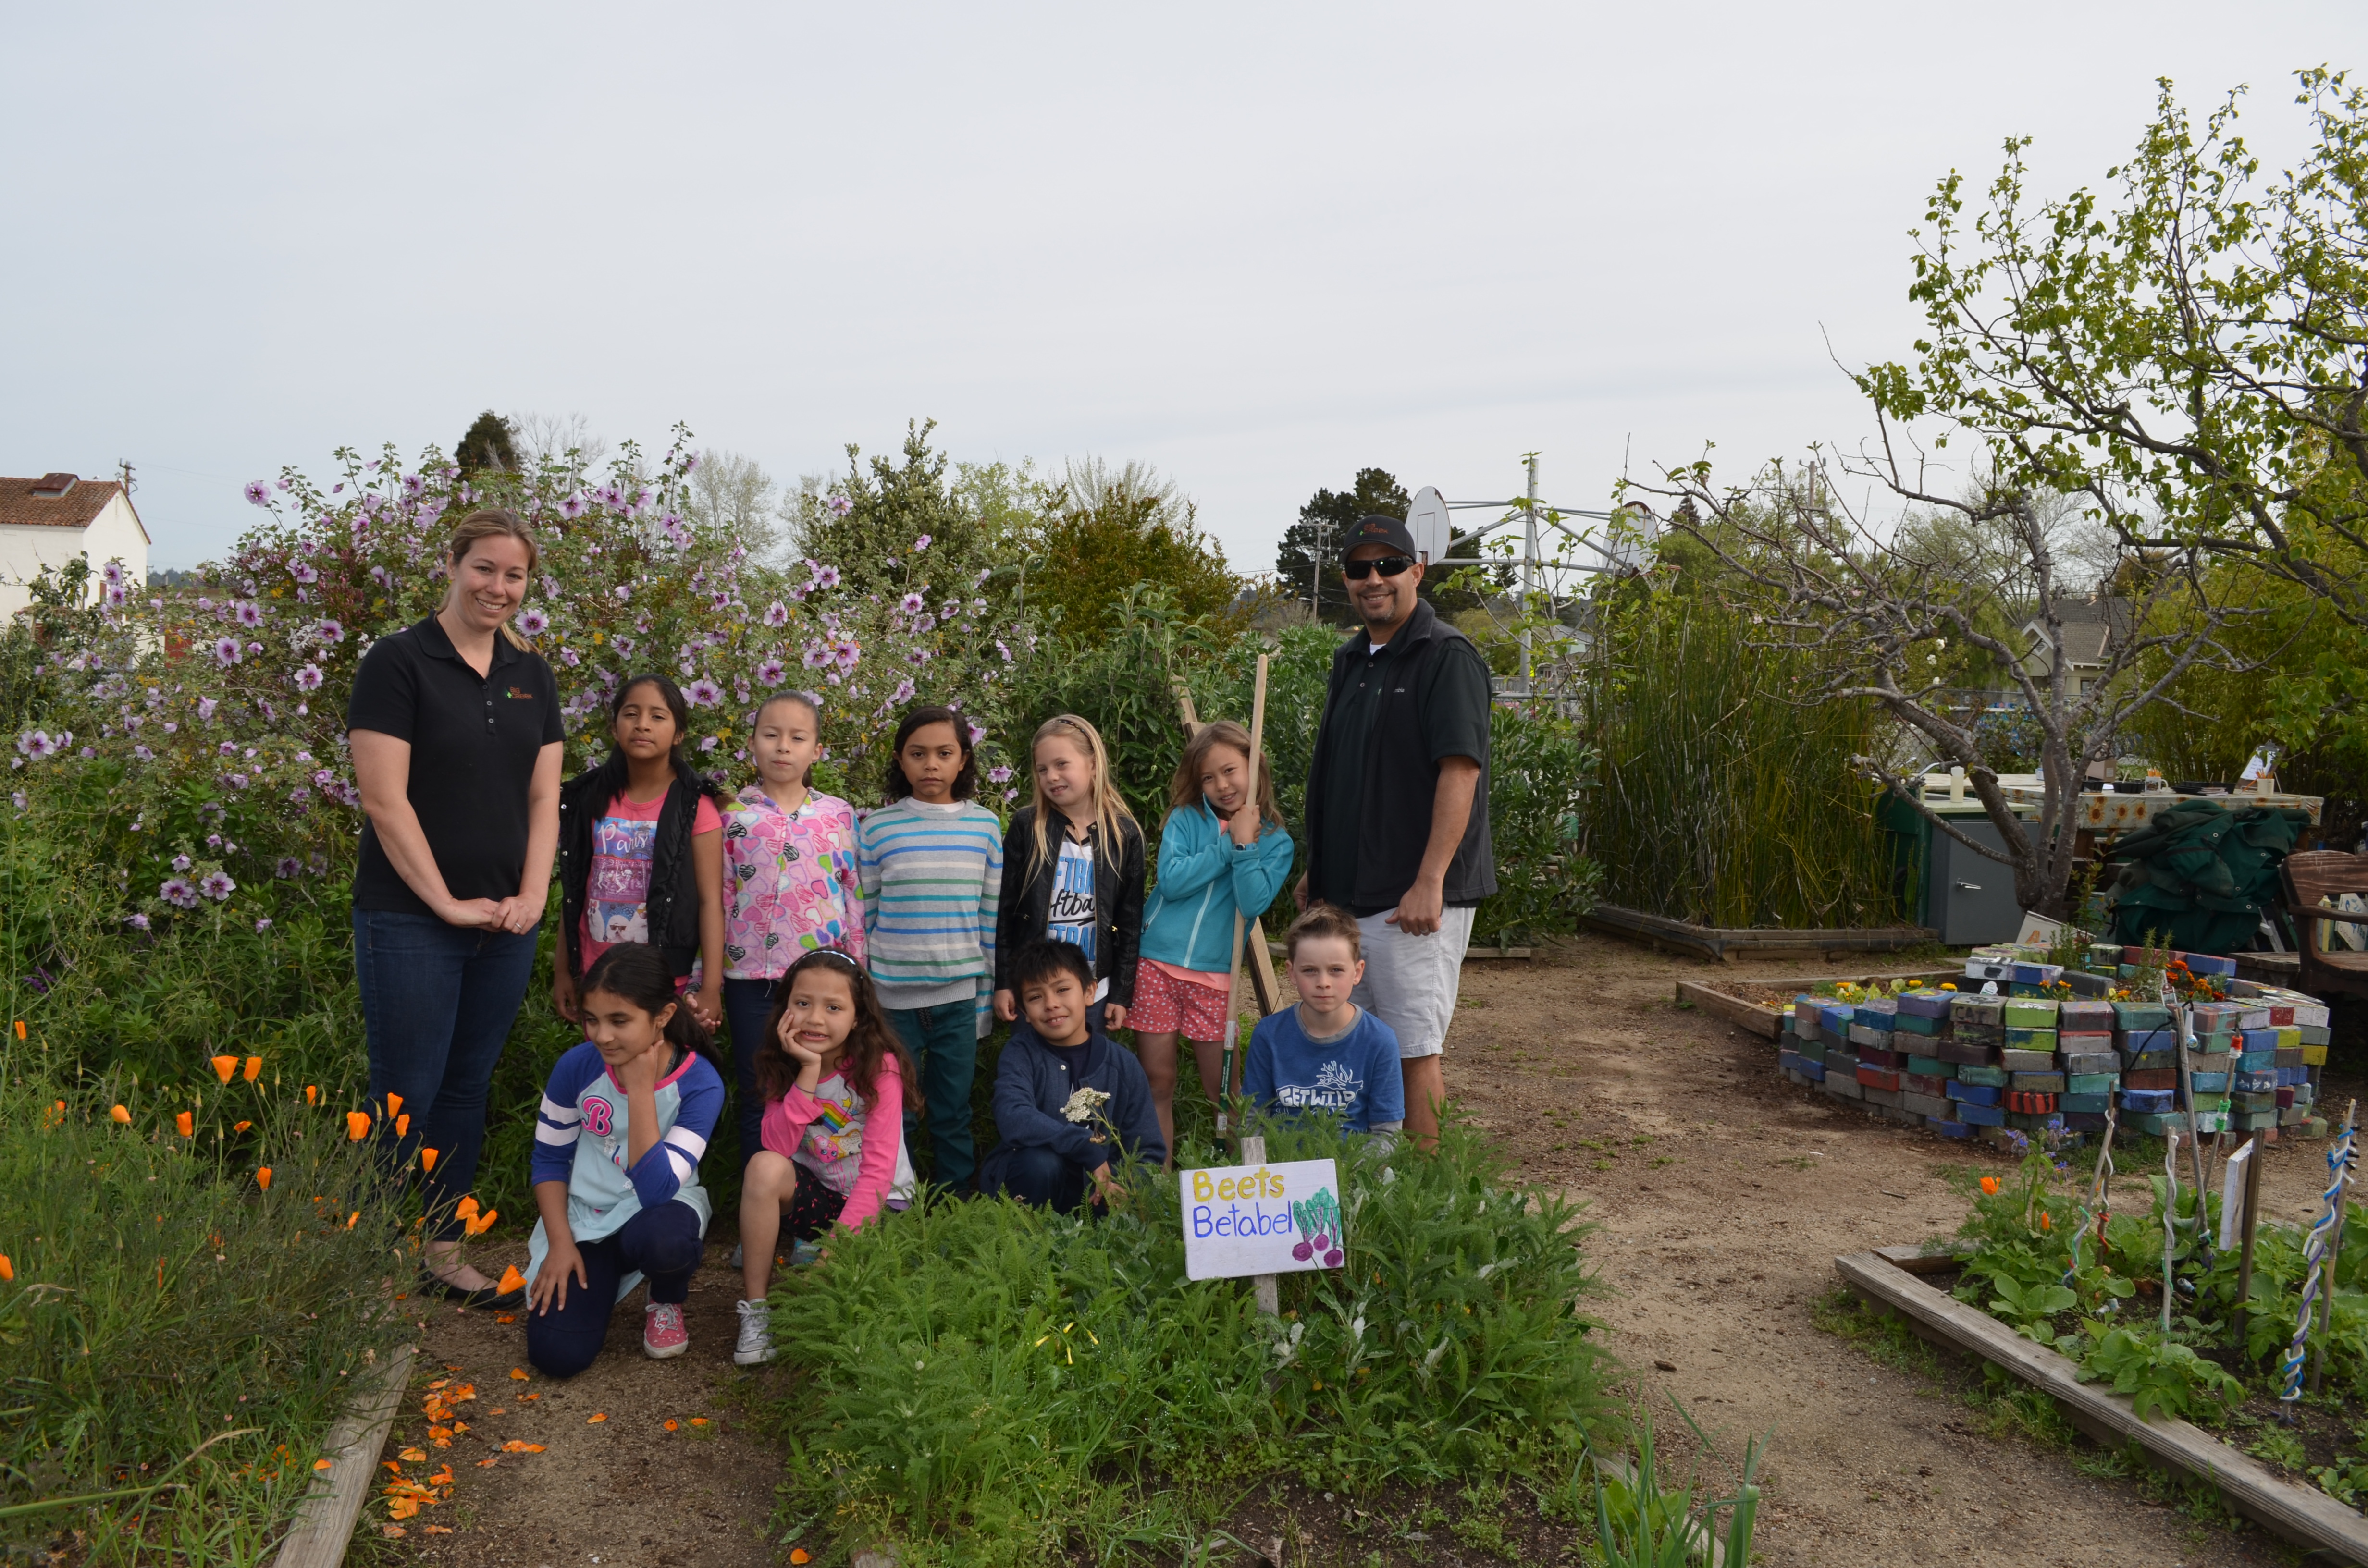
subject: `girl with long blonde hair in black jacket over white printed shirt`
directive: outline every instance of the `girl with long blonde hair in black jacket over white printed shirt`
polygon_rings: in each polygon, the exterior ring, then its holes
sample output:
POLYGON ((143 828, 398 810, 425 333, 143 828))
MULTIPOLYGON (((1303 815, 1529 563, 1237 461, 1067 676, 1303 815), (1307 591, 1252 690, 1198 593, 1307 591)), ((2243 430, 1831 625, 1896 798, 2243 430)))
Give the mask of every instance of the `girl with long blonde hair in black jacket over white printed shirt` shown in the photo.
POLYGON ((1094 969, 1103 1028, 1125 1028, 1144 938, 1144 829, 1111 782, 1101 732, 1075 713, 1037 727, 1030 798, 1004 834, 995 924, 995 1016, 1018 1018, 1011 955, 1037 938, 1075 945, 1094 969))

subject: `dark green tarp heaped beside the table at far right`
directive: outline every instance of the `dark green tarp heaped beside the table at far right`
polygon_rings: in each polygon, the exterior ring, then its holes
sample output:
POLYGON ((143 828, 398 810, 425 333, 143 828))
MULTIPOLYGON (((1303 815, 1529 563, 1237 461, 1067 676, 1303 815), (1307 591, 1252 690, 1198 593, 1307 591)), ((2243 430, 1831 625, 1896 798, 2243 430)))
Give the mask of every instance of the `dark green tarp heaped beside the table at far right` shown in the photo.
POLYGON ((2271 805, 2193 801, 2155 812, 2105 850, 2122 867, 2108 893, 2115 940, 2153 936, 2221 955, 2250 947, 2261 910, 2278 902, 2278 862, 2309 827, 2306 812, 2271 805))

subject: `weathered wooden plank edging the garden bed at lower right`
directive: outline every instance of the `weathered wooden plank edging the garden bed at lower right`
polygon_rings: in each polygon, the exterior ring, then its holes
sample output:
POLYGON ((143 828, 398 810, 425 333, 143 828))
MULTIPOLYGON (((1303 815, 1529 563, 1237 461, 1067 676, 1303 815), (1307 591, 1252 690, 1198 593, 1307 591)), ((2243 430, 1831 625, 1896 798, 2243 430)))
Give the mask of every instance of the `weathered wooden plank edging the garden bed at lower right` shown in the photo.
POLYGON ((2257 1459, 2235 1452, 2190 1421, 2141 1421, 2126 1395, 2081 1383, 2070 1357, 2022 1338, 1987 1312, 1977 1312, 1904 1272, 1899 1260, 1890 1255, 1897 1251, 1904 1248, 1845 1253, 1833 1260, 1833 1267, 1859 1296, 1930 1329, 1930 1338, 1980 1355, 2051 1395, 2081 1431, 2105 1442, 2136 1442, 2157 1464, 2216 1485, 2228 1506, 2245 1518, 2290 1542, 2368 1568, 2368 1518, 2316 1487, 2271 1476, 2257 1459))

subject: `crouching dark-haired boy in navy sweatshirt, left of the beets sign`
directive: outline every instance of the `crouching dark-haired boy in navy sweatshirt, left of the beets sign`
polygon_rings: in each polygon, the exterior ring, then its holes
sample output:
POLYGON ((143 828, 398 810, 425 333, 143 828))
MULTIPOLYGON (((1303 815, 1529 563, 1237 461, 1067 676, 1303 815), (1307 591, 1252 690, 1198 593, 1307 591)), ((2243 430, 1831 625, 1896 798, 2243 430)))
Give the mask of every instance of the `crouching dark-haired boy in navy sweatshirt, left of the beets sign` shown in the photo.
POLYGON ((1092 1182, 1094 1203, 1127 1196, 1111 1161, 1167 1158, 1151 1082, 1132 1052, 1094 1021, 1094 971, 1070 943, 1028 943, 1011 959, 1023 1021, 995 1071, 1002 1142, 978 1168, 978 1189, 1070 1213, 1092 1182), (1115 1142, 1113 1142, 1115 1135, 1115 1142))

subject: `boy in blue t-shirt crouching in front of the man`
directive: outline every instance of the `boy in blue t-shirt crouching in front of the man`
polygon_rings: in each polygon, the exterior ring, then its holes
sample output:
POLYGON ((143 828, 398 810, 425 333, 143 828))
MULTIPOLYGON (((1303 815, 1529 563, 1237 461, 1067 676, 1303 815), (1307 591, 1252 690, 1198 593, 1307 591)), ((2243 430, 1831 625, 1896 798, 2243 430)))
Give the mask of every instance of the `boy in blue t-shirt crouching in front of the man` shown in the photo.
POLYGON ((1354 917, 1314 905, 1291 921, 1283 947, 1300 1004, 1250 1033, 1241 1092, 1267 1111, 1328 1111, 1350 1132, 1395 1142, 1407 1120, 1407 1085, 1397 1035, 1347 1000, 1364 978, 1354 917))

